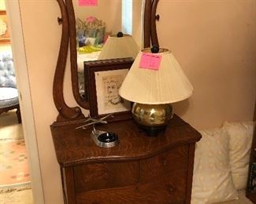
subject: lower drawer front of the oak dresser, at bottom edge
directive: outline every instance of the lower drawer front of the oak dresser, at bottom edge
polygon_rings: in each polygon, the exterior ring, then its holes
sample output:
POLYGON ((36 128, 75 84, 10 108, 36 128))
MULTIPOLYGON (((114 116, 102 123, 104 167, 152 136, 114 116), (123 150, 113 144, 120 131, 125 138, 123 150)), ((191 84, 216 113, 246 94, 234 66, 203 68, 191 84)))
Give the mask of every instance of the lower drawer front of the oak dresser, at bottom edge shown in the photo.
POLYGON ((77 195, 77 203, 172 203, 184 204, 185 199, 176 198, 162 180, 142 183, 126 188, 88 191, 77 195))

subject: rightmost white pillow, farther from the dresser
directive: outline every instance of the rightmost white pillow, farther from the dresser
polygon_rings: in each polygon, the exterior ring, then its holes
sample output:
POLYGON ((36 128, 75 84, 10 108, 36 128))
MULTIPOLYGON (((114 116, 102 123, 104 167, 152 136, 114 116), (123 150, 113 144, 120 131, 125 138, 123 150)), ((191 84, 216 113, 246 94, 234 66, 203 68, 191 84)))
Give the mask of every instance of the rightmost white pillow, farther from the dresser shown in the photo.
POLYGON ((224 122, 229 137, 229 163, 237 190, 247 186, 254 122, 224 122))

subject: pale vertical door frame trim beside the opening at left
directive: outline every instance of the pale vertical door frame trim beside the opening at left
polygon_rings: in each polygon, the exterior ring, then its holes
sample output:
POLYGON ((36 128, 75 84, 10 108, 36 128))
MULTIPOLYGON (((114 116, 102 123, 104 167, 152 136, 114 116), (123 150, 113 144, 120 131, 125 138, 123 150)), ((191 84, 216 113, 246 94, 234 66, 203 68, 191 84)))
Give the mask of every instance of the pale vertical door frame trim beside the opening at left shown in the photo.
MULTIPOLYGON (((4 0, 1 0, 1 2, 2 1, 4 0)), ((17 87, 19 89, 20 112, 24 132, 24 141, 29 158, 32 195, 35 203, 43 204, 43 182, 41 178, 19 2, 20 1, 5 0, 6 13, 11 37, 17 87)))

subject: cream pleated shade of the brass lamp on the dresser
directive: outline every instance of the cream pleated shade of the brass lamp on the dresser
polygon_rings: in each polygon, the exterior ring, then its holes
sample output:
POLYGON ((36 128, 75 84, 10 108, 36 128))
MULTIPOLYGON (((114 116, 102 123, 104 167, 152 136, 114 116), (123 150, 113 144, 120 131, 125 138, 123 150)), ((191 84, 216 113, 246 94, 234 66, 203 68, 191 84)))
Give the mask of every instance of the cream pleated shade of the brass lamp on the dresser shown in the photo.
POLYGON ((158 70, 139 67, 143 53, 151 52, 139 52, 119 89, 121 97, 139 104, 171 104, 191 97, 193 87, 173 53, 168 49, 151 53, 161 56, 158 70))

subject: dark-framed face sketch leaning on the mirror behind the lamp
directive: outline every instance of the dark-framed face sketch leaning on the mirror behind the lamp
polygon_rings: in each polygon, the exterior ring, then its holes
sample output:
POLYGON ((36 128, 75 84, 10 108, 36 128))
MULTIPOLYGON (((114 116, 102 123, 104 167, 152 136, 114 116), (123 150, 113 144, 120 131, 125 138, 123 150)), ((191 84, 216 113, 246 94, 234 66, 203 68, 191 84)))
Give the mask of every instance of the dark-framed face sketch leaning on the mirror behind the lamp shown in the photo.
POLYGON ((132 63, 132 58, 84 62, 84 82, 91 117, 112 113, 113 117, 107 118, 108 121, 132 118, 131 102, 118 94, 132 63))

